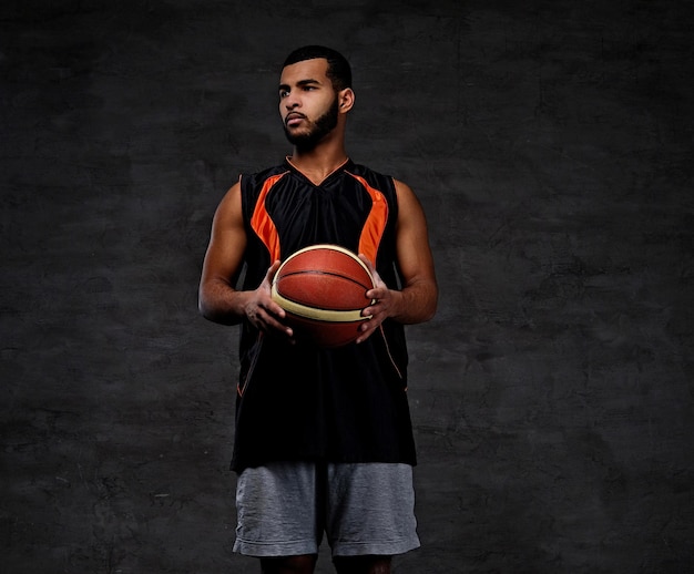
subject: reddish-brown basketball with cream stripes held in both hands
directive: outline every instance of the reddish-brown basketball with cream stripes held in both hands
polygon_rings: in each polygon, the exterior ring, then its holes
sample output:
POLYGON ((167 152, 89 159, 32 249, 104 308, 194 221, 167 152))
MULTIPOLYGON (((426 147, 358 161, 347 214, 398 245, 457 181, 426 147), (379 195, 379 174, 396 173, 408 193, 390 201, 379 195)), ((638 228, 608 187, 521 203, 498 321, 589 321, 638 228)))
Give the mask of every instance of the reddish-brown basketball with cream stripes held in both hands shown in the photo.
POLYGON ((368 267, 353 252, 337 245, 313 245, 292 254, 277 269, 272 298, 287 314, 297 338, 335 348, 354 341, 361 310, 372 300, 368 267))

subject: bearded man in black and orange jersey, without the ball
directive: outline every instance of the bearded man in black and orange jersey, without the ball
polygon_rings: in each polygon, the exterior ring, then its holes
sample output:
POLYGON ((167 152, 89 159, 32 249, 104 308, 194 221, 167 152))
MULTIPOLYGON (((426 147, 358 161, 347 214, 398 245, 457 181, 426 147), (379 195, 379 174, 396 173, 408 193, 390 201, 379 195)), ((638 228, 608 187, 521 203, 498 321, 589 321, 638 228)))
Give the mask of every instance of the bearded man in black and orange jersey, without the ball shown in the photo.
POLYGON ((430 319, 438 290, 414 192, 346 153, 354 103, 338 52, 287 58, 279 114, 293 155, 228 191, 203 264, 201 312, 242 324, 234 550, 266 574, 313 572, 324 532, 338 573, 388 573, 419 546, 404 325, 430 319), (271 299, 280 260, 319 243, 358 253, 376 278, 371 318, 338 349, 295 340, 271 299))

